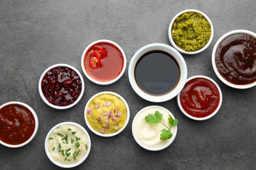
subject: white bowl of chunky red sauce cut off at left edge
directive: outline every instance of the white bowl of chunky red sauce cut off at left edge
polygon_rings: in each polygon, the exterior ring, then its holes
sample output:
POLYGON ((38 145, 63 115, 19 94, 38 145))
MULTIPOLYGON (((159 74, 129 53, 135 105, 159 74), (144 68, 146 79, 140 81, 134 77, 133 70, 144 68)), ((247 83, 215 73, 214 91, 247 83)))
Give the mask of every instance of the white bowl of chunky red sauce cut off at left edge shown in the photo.
POLYGON ((38 118, 29 105, 11 101, 0 107, 0 143, 18 148, 30 143, 38 129, 38 118))

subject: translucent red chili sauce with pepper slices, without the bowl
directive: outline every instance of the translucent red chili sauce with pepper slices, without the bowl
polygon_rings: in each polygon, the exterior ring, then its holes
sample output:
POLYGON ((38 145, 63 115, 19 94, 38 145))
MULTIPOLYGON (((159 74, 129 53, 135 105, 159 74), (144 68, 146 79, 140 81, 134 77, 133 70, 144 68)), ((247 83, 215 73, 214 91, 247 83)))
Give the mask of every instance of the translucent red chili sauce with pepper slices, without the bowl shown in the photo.
POLYGON ((85 70, 100 82, 114 80, 123 69, 123 55, 117 46, 108 42, 98 42, 85 54, 85 70))

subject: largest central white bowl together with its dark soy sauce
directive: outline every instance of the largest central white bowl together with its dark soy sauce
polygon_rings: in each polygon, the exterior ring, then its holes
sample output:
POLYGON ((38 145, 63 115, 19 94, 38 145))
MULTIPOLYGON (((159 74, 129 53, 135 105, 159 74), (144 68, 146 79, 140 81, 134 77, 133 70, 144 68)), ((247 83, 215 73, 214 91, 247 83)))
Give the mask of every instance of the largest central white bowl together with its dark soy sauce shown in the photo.
POLYGON ((148 101, 163 102, 181 92, 187 76, 186 62, 175 48, 148 44, 138 50, 129 65, 129 81, 148 101))

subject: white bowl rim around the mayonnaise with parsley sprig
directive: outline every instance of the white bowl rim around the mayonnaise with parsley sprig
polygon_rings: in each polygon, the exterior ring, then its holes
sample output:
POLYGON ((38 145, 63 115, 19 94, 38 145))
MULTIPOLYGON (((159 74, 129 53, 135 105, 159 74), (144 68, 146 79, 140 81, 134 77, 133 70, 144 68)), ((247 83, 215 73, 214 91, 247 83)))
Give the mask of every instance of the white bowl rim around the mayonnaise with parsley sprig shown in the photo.
MULTIPOLYGON (((171 127, 171 133, 173 133, 173 136, 171 137, 171 139, 167 139, 167 141, 161 141, 161 142, 163 142, 163 146, 156 147, 156 148, 152 148, 152 147, 149 147, 149 146, 145 146, 145 144, 143 144, 143 143, 138 139, 138 137, 137 137, 137 135, 136 135, 135 122, 137 121, 137 118, 139 118, 140 114, 142 114, 145 110, 150 110, 150 109, 154 109, 154 110, 157 109, 157 110, 160 111, 160 112, 161 112, 161 110, 163 110, 163 111, 167 112, 167 114, 171 115, 171 117, 172 117, 173 119, 175 119, 175 117, 173 116, 173 114, 172 114, 169 110, 165 109, 164 107, 157 106, 157 105, 152 105, 152 106, 144 107, 143 109, 139 110, 139 112, 137 112, 137 114, 135 115, 135 118, 133 118, 133 124, 132 124, 133 137, 134 137, 135 141, 136 141, 142 148, 144 148, 144 149, 146 149, 146 150, 150 150, 150 151, 163 150, 164 148, 167 148, 171 143, 173 143, 173 141, 174 141, 174 139, 175 139, 175 137, 176 137, 176 135, 177 135, 177 129, 178 129, 178 127, 177 127, 177 125, 171 127)), ((148 112, 147 115, 148 115, 148 114, 154 114, 154 113, 148 112)), ((168 120, 167 120, 167 122, 168 122, 168 120)), ((161 131, 161 129, 160 129, 160 131, 161 131)), ((152 132, 154 133, 154 131, 152 131, 152 132)), ((157 136, 157 138, 160 138, 160 136, 157 136)), ((152 139, 152 137, 151 137, 151 139, 152 139)), ((150 139, 148 139, 148 140, 150 140, 150 139)), ((148 140, 147 140, 147 141, 148 141, 148 140)))

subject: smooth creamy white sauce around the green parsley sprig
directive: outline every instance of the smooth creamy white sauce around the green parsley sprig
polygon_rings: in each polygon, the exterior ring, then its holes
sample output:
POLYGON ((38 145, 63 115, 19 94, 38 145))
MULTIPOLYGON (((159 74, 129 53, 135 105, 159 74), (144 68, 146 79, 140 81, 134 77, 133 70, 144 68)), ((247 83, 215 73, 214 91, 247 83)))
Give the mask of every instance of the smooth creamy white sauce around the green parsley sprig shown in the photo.
MULTIPOLYGON (((140 143, 142 143, 144 146, 147 146, 148 148, 160 148, 169 143, 169 140, 160 140, 161 129, 167 129, 167 127, 163 126, 163 124, 160 123, 148 124, 145 120, 145 117, 148 116, 148 114, 154 114, 156 110, 160 111, 160 113, 163 114, 161 122, 169 127, 169 114, 168 112, 160 108, 148 108, 144 110, 140 113, 140 115, 137 116, 137 119, 134 122, 135 124, 133 130, 137 139, 140 141, 140 143)), ((171 133, 174 133, 174 128, 171 128, 171 133)))

